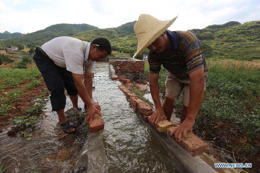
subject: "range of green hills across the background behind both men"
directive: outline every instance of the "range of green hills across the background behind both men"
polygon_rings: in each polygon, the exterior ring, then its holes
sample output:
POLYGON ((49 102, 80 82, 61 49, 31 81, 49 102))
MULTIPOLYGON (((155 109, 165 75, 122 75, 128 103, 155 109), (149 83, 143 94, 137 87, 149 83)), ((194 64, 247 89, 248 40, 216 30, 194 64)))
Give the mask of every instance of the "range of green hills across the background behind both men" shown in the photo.
MULTIPOLYGON (((27 47, 42 45, 59 36, 71 36, 91 42, 96 37, 106 37, 113 50, 135 52, 137 38, 133 31, 136 21, 116 28, 99 29, 87 24, 57 24, 21 37, 0 40, 0 47, 23 43, 27 47)), ((221 59, 260 59, 260 21, 241 24, 231 21, 222 25, 209 25, 204 29, 191 29, 203 44, 206 57, 221 59)), ((147 51, 147 50, 145 50, 147 51)))

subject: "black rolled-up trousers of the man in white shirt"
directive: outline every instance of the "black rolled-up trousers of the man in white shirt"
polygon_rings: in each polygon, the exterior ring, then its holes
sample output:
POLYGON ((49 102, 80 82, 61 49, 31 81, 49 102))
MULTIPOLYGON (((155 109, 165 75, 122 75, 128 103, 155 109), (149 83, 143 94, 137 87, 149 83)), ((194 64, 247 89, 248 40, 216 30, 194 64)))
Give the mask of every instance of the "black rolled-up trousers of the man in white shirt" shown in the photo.
POLYGON ((47 89, 51 91, 52 111, 64 109, 66 105, 64 87, 68 95, 73 96, 78 94, 72 73, 66 68, 57 66, 49 57, 35 53, 33 59, 42 73, 47 89))

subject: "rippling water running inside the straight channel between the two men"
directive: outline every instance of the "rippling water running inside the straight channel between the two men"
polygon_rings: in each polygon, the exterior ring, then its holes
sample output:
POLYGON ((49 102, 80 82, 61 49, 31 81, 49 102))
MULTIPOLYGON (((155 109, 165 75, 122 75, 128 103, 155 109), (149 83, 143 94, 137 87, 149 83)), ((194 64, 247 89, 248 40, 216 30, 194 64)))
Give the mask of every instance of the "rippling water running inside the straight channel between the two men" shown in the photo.
POLYGON ((101 106, 108 172, 185 172, 112 81, 108 63, 96 63, 93 95, 101 106))

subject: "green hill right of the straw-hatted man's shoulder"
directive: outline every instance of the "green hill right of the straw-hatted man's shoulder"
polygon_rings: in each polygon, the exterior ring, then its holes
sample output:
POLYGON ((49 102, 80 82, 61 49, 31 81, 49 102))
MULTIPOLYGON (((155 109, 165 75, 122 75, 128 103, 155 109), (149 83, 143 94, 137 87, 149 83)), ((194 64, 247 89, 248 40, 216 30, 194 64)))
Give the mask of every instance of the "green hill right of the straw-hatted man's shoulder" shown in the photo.
POLYGON ((260 59, 260 21, 227 22, 204 29, 188 30, 203 44, 204 52, 212 58, 260 59))

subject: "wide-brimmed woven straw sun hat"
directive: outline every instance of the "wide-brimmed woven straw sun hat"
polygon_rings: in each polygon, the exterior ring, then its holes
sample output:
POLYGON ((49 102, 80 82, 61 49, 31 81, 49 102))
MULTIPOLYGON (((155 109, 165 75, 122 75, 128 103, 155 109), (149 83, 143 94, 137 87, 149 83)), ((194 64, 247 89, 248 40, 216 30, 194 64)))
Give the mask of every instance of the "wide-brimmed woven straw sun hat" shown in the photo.
POLYGON ((138 45, 133 58, 152 44, 168 27, 172 25, 177 17, 178 16, 172 20, 158 20, 149 14, 141 14, 134 25, 138 45))

